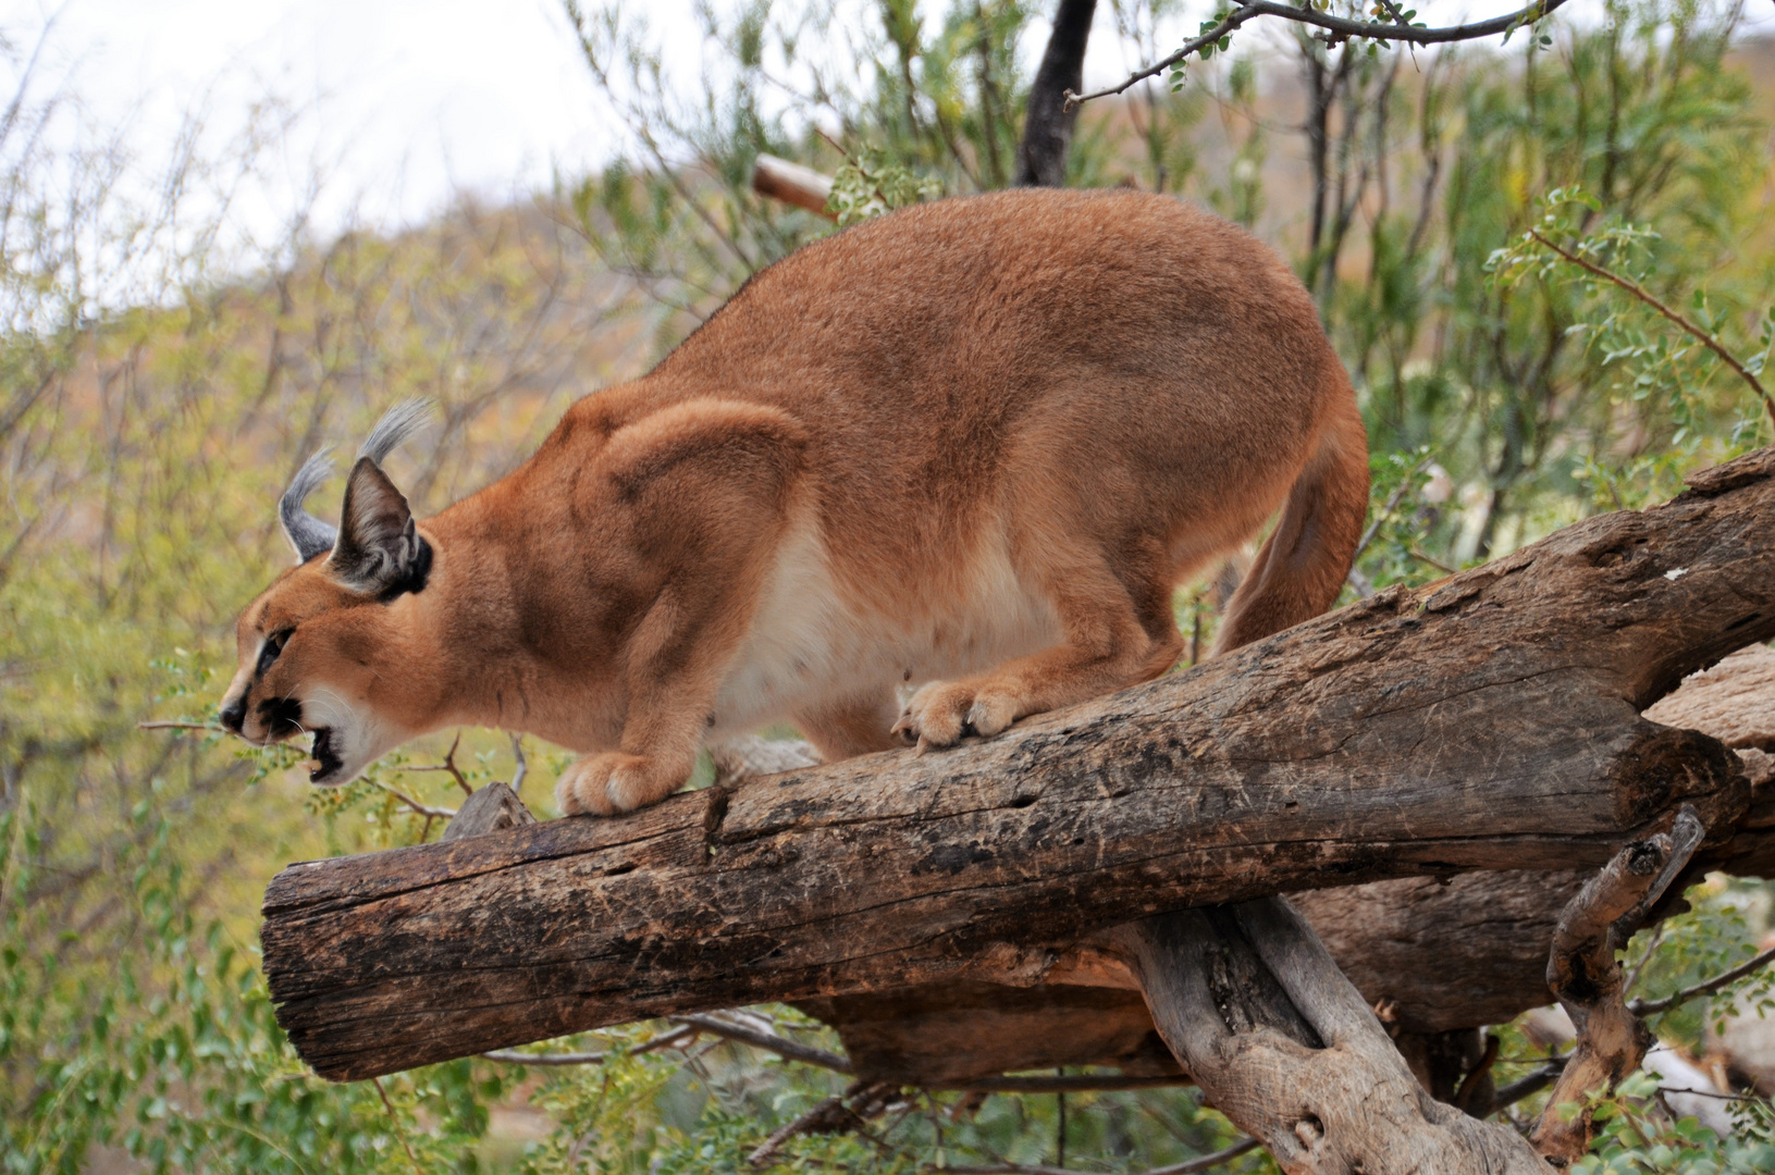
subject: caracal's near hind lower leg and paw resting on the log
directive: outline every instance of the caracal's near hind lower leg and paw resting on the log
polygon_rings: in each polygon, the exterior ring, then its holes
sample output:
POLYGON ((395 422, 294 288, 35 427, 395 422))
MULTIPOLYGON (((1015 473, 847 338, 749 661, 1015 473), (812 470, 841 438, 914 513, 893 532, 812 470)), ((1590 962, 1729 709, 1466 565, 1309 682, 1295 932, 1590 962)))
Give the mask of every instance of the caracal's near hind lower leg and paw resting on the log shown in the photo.
POLYGON ((1035 575, 1065 644, 960 682, 919 687, 893 728, 898 738, 923 751, 966 733, 990 737, 1021 717, 1147 682, 1177 664, 1184 644, 1159 550, 1124 552, 1118 563, 1132 572, 1129 582, 1111 570, 1106 552, 1065 547, 1053 532, 1044 538, 1035 575))

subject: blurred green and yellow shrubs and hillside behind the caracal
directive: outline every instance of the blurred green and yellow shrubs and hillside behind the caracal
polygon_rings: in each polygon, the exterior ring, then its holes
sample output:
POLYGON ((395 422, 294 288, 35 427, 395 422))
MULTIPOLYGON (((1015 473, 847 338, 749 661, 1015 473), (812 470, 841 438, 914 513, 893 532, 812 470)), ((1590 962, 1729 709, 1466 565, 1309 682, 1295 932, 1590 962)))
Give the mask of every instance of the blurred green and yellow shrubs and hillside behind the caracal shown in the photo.
MULTIPOLYGON (((332 1086, 289 1051, 259 980, 277 868, 435 838, 426 809, 460 795, 426 770, 449 738, 312 792, 288 770, 300 753, 213 728, 234 611, 288 559, 273 502, 300 461, 424 394, 438 424, 394 458, 421 515, 511 469, 572 399, 639 375, 749 273, 834 231, 753 195, 760 153, 838 174, 850 217, 1005 186, 1047 16, 1015 0, 698 9, 705 69, 685 78, 660 44, 692 30, 653 28, 639 4, 566 12, 607 99, 586 117, 614 119, 623 144, 609 167, 328 240, 304 208, 263 240, 231 213, 300 114, 266 103, 229 142, 193 130, 146 158, 41 83, 36 28, 5 30, 0 1170, 749 1170, 751 1148, 841 1088, 706 1037, 637 1053, 657 1024, 550 1045, 602 1063, 332 1086)), ((1093 35, 1134 66, 1209 14, 1109 0, 1093 35)), ((1775 43, 1740 20, 1720 0, 1610 0, 1440 51, 1253 28, 1177 87, 1085 108, 1069 183, 1200 201, 1319 300, 1374 449, 1351 593, 1661 501, 1770 444, 1752 382, 1775 321, 1775 43)), ((1214 602, 1214 584, 1186 588, 1180 623, 1207 639, 1214 602)), ((509 779, 515 749, 467 731, 454 761, 469 785, 509 779)), ((564 756, 522 753, 525 799, 548 809, 564 756)), ((1692 896, 1638 967, 1651 996, 1768 932, 1761 884, 1692 896)), ((836 1044, 790 1010, 760 1015, 836 1044)), ((1690 1006, 1658 1028, 1700 1051, 1706 1019, 1690 1006)), ((1589 1170, 1775 1164, 1766 1102, 1734 1102, 1722 1141, 1631 1093, 1589 1170)), ((870 1132, 799 1138, 776 1161, 1140 1171, 1235 1138, 1191 1090, 907 1093, 870 1132)), ((1251 1154, 1221 1170, 1273 1168, 1251 1154)))

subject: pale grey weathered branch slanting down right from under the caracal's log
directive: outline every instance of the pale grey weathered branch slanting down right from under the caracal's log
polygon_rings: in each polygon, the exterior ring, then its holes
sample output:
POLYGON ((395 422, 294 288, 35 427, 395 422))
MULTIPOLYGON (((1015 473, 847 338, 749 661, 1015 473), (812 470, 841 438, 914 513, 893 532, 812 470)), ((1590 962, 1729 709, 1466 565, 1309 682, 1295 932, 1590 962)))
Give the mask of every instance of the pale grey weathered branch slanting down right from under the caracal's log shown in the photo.
POLYGON ((1285 898, 1116 932, 1159 1035, 1289 1175, 1546 1175, 1516 1131, 1434 1100, 1285 898))

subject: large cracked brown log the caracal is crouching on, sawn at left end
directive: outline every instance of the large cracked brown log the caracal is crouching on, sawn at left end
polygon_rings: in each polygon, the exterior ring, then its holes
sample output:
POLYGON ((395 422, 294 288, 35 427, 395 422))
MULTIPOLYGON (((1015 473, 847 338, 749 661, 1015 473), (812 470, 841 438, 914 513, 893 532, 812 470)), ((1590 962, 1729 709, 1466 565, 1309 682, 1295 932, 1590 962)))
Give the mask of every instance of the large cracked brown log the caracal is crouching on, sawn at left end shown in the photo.
POLYGON ((1594 868, 1684 802, 1729 829, 1736 756, 1638 712, 1775 634, 1775 451, 1692 485, 989 742, 291 866, 264 902, 279 1021, 316 1072, 369 1077, 1033 983, 1090 932, 1328 882, 1594 868))

